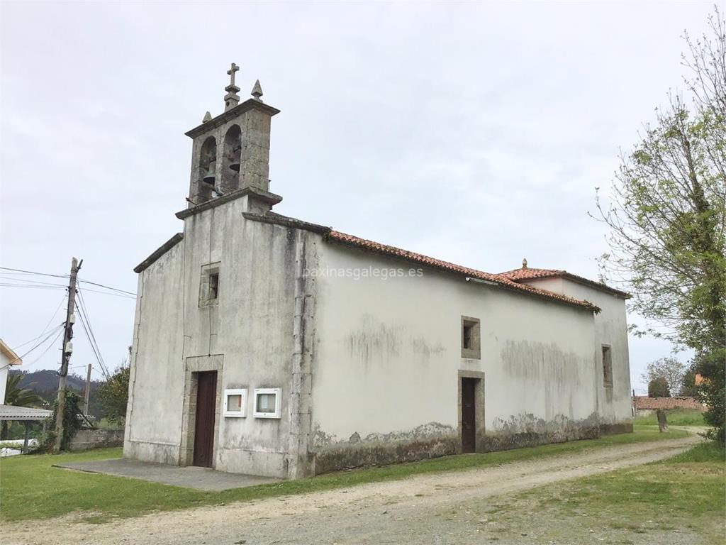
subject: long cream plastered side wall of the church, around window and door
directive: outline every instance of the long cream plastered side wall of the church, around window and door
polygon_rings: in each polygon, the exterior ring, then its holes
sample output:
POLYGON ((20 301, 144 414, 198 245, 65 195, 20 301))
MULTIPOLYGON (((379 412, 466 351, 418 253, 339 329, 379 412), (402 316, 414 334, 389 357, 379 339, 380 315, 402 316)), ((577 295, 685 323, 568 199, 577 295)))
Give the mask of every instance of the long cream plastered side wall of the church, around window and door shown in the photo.
MULTIPOLYGON (((327 270, 416 267, 334 243, 321 255, 327 270)), ((428 269, 318 283, 318 449, 354 433, 409 437, 431 422, 456 432, 460 370, 485 374, 487 434, 524 432, 533 420, 587 421, 596 411, 592 312, 428 269), (462 315, 481 319, 481 360, 461 357, 462 315)))

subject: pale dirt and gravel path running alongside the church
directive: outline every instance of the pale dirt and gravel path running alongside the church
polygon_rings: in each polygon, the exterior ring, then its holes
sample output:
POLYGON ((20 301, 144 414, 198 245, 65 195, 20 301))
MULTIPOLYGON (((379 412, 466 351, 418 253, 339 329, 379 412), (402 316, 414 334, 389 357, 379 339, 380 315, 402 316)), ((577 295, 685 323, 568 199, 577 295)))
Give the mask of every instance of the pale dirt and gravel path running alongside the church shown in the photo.
MULTIPOLYGON (((149 514, 102 525, 77 522, 73 517, 17 522, 4 525, 0 541, 4 545, 488 543, 486 520, 457 520, 442 517, 442 512, 466 509, 472 498, 491 498, 494 504, 495 496, 657 461, 699 440, 691 436, 619 445, 335 491, 149 514)), ((536 514, 532 524, 537 524, 536 514)))

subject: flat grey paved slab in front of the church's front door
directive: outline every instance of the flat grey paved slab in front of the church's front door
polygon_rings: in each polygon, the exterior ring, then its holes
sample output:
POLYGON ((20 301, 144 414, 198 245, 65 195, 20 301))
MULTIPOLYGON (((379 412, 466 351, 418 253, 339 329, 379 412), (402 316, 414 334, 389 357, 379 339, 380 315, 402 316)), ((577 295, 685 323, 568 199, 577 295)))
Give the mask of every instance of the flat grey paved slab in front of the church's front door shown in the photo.
POLYGON ((195 488, 207 492, 220 492, 230 488, 244 488, 246 486, 281 482, 280 479, 272 477, 225 473, 208 467, 179 467, 123 458, 53 464, 53 467, 115 475, 116 477, 129 477, 131 479, 147 480, 152 483, 195 488))

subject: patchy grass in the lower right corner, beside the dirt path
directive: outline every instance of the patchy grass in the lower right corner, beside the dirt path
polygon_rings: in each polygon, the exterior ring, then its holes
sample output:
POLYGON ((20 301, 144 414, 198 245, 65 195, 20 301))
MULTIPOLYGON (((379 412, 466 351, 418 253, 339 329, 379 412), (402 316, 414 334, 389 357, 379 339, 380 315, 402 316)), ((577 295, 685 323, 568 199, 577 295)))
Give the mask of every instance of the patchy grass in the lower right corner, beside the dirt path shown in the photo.
POLYGON ((706 443, 653 464, 510 496, 496 506, 498 540, 515 541, 536 512, 541 523, 529 531, 537 543, 721 545, 724 461, 724 449, 706 443))

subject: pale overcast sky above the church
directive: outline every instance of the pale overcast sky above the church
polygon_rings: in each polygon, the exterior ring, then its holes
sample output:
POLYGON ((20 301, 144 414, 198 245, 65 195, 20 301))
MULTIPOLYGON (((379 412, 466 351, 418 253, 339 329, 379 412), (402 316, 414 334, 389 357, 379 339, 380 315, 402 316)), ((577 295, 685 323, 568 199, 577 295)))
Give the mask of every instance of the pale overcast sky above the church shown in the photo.
MULTIPOLYGON (((607 190, 619 148, 682 87, 682 33, 702 33, 711 9, 2 2, 0 266, 64 275, 76 256, 81 278, 136 291, 132 268, 182 228, 184 132, 221 113, 234 61, 242 100, 259 78, 282 110, 275 211, 492 273, 526 257, 597 278, 595 187, 607 190)), ((62 288, 17 284, 65 279, 0 277, 14 284, 0 286, 11 347, 62 322, 62 288)), ((82 287, 113 368, 134 299, 82 287)), ((52 340, 23 369, 57 368, 52 340)), ((72 366, 94 363, 78 325, 74 346, 72 366)), ((670 350, 630 339, 636 389, 670 350)))

